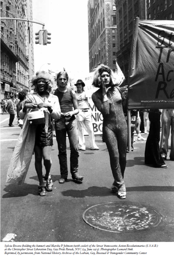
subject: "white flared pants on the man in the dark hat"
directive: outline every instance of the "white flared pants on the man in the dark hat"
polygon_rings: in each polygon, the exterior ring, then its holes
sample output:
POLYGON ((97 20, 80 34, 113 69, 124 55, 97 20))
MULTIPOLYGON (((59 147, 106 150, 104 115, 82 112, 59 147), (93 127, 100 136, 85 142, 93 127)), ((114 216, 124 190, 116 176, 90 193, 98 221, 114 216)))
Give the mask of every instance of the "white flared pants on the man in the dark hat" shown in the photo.
POLYGON ((77 114, 76 120, 77 120, 77 128, 78 128, 78 135, 79 135, 78 148, 85 150, 84 126, 86 127, 86 130, 89 134, 90 148, 91 149, 98 148, 97 145, 95 144, 91 111, 88 110, 87 112, 83 112, 82 110, 79 109, 79 114, 77 114))

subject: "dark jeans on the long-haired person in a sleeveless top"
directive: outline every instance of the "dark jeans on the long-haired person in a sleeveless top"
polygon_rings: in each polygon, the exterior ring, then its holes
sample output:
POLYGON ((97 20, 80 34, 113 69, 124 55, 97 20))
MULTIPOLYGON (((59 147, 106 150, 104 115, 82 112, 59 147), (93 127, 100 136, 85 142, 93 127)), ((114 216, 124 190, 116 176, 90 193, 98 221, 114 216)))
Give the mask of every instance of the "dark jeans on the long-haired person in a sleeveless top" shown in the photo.
POLYGON ((75 174, 79 167, 76 119, 66 121, 65 118, 61 118, 59 121, 55 121, 55 134, 59 150, 58 157, 60 164, 60 174, 62 178, 67 178, 68 176, 66 133, 68 135, 70 145, 70 172, 71 174, 75 174))

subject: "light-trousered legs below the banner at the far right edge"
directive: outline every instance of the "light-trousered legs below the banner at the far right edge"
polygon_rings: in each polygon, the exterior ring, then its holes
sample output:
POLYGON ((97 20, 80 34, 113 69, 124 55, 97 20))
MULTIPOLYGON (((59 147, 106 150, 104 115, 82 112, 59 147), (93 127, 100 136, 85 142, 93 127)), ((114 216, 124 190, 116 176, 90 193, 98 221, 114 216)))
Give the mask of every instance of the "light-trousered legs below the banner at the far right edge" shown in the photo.
POLYGON ((161 115, 161 140, 160 140, 160 153, 164 160, 167 159, 168 152, 168 138, 171 128, 171 150, 170 160, 174 161, 174 109, 163 109, 161 115))

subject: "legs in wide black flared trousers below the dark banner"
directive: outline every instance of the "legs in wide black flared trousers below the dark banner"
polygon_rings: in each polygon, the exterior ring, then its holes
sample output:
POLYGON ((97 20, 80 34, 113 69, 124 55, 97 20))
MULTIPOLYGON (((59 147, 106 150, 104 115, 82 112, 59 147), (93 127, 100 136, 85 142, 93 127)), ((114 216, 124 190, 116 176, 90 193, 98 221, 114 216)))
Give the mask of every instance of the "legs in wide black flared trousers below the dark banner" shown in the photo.
POLYGON ((146 141, 144 162, 145 164, 153 164, 158 168, 167 168, 160 154, 160 115, 159 109, 152 109, 148 112, 150 121, 149 134, 146 141))

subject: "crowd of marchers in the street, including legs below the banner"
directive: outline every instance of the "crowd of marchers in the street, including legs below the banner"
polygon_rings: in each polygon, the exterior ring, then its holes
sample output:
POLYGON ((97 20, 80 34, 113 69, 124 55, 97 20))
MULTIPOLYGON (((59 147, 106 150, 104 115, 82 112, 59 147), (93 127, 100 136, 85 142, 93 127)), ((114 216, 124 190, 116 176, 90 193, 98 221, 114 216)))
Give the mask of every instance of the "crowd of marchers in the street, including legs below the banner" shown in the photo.
MULTIPOLYGON (((70 145, 70 173, 73 180, 81 183, 83 176, 79 174, 79 150, 86 150, 84 128, 89 134, 91 150, 99 150, 95 143, 91 110, 85 93, 85 83, 77 80, 77 92, 67 86, 68 74, 61 71, 57 74, 57 89, 52 93, 54 79, 44 71, 33 76, 31 82, 34 93, 20 92, 18 104, 13 98, 9 100, 7 110, 10 113, 9 126, 13 126, 14 110, 17 110, 18 122, 22 121, 22 130, 14 149, 7 173, 7 182, 23 184, 30 166, 32 155, 35 155, 35 168, 38 175, 40 196, 53 190, 51 179, 51 148, 55 134, 58 146, 60 165, 59 183, 68 178, 66 136, 70 145), (34 112, 37 116, 42 111, 42 122, 31 122, 28 116, 34 112), (43 173, 42 161, 45 167, 43 173), (46 184, 45 184, 46 182, 46 184)), ((127 87, 121 87, 124 76, 114 73, 108 66, 100 64, 95 68, 93 86, 98 90, 92 94, 92 100, 103 115, 103 141, 106 143, 113 182, 111 192, 120 199, 126 198, 126 186, 123 180, 128 151, 127 133, 127 87)), ((37 119, 37 118, 36 118, 37 119)), ((134 131, 137 140, 146 140, 145 164, 158 168, 167 168, 165 160, 168 152, 168 138, 172 133, 170 160, 174 160, 174 109, 144 110, 138 113, 131 110, 131 150, 133 151, 134 131), (162 114, 162 116, 161 116, 162 114), (143 115, 144 128, 147 134, 147 115, 150 129, 147 140, 140 134, 139 119, 143 115), (160 128, 162 128, 160 140, 160 128), (159 147, 160 142, 160 147, 159 147)), ((144 130, 143 130, 144 129, 144 130)))

